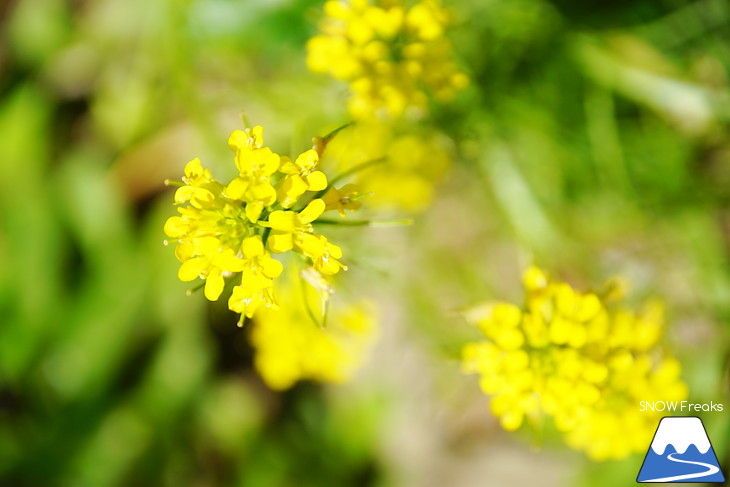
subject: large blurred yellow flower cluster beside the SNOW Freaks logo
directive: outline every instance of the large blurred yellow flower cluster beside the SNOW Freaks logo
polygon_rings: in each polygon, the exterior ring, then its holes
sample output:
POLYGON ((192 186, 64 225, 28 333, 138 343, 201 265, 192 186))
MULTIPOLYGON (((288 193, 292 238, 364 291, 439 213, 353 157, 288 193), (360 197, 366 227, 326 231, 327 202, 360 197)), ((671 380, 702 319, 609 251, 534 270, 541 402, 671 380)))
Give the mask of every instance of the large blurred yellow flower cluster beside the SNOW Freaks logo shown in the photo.
POLYGON ((641 412, 639 402, 687 395, 679 363, 658 345, 661 307, 614 308, 535 267, 523 282, 524 309, 496 303, 467 314, 486 340, 463 348, 463 370, 481 376, 502 426, 547 415, 592 459, 645 451, 661 413, 641 412))

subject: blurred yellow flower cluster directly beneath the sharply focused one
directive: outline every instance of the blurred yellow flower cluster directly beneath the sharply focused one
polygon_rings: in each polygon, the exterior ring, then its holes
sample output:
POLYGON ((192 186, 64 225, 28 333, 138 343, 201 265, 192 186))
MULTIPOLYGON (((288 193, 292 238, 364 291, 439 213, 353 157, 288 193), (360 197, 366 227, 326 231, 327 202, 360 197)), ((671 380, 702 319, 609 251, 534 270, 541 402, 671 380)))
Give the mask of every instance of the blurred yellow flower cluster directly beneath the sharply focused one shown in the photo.
MULTIPOLYGON (((297 276, 294 275, 294 278, 297 276)), ((343 383, 363 361, 375 338, 375 320, 366 303, 330 310, 321 326, 319 296, 291 292, 293 279, 284 283, 287 295, 296 296, 278 309, 256 316, 251 343, 256 349, 254 365, 272 389, 288 389, 303 379, 343 383)), ((314 288, 312 288, 314 289, 314 288)))

